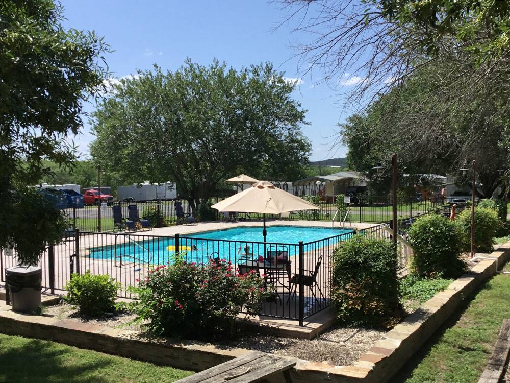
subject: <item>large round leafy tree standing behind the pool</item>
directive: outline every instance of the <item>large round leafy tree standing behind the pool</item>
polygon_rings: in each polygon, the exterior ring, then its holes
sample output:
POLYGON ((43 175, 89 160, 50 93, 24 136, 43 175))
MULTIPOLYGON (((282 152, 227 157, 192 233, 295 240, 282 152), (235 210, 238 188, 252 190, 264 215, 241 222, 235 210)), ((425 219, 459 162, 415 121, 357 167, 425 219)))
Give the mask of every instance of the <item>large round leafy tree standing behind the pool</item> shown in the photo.
POLYGON ((310 143, 295 84, 270 64, 227 68, 187 60, 175 72, 139 71, 94 114, 92 156, 134 182, 174 181, 194 210, 221 180, 299 178, 310 143))

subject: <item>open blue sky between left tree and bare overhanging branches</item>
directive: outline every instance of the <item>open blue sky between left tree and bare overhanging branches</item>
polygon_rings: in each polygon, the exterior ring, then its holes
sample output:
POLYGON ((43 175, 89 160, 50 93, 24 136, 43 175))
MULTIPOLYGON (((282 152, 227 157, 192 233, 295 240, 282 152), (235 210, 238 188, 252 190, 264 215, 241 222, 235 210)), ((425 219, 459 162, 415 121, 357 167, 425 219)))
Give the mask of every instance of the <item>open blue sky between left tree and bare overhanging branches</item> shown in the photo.
MULTIPOLYGON (((75 1, 64 0, 66 27, 95 30, 115 51, 107 55, 115 77, 137 69, 150 69, 157 63, 164 70, 179 68, 186 57, 202 65, 213 58, 227 65, 270 61, 289 78, 299 78, 298 60, 290 45, 309 38, 292 34, 292 25, 279 25, 287 11, 264 0, 252 1, 75 1)), ((311 160, 344 157, 345 148, 329 151, 338 132, 342 115, 338 106, 341 90, 317 84, 319 76, 304 76, 293 97, 308 109, 310 126, 303 131, 313 144, 311 160)), ((343 89, 345 90, 345 89, 343 89)), ((88 106, 87 110, 93 110, 88 106)), ((89 126, 75 139, 79 150, 88 153, 93 140, 89 126)))

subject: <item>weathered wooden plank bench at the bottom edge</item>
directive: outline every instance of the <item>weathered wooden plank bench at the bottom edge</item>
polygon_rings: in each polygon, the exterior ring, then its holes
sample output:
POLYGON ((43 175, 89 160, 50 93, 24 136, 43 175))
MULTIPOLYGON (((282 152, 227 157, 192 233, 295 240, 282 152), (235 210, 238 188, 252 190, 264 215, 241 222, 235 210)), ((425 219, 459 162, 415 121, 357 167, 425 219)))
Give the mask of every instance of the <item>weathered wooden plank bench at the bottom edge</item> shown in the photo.
POLYGON ((282 372, 291 383, 289 370, 296 365, 289 360, 265 352, 253 351, 231 361, 181 379, 178 383, 249 383, 264 381, 268 376, 282 372))

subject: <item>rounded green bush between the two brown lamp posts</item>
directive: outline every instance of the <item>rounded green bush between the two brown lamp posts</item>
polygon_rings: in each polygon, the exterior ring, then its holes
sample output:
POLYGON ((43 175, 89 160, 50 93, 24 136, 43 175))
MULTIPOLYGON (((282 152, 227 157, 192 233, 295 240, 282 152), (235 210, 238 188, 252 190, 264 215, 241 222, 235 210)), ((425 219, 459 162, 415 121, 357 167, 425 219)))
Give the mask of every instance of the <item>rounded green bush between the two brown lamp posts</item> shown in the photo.
POLYGON ((412 268, 419 276, 456 278, 466 270, 460 258, 462 233, 448 218, 425 214, 411 225, 409 241, 412 268))

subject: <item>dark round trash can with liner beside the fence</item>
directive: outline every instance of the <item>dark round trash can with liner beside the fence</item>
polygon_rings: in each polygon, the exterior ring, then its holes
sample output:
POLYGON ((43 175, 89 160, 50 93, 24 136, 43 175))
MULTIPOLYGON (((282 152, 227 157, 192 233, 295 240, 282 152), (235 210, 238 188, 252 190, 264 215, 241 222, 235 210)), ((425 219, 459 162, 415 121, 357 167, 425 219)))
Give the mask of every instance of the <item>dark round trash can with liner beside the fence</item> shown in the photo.
POLYGON ((42 270, 38 266, 14 266, 5 270, 6 303, 14 311, 38 312, 41 305, 42 270))

